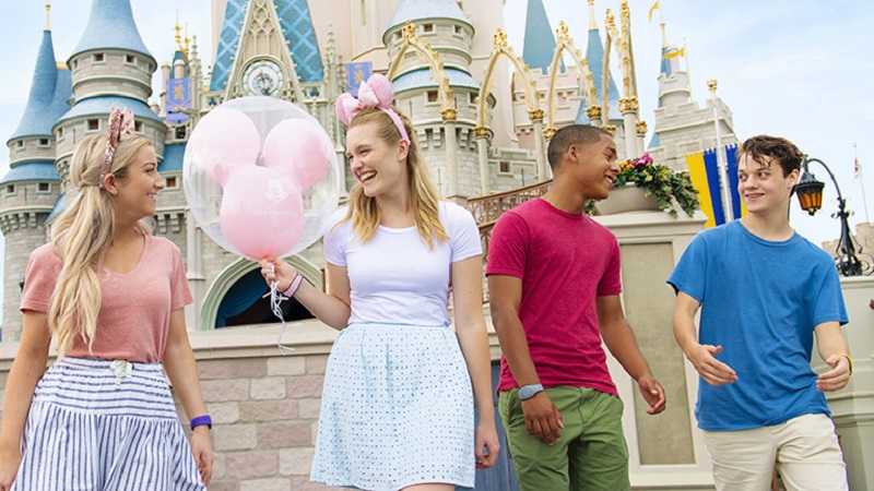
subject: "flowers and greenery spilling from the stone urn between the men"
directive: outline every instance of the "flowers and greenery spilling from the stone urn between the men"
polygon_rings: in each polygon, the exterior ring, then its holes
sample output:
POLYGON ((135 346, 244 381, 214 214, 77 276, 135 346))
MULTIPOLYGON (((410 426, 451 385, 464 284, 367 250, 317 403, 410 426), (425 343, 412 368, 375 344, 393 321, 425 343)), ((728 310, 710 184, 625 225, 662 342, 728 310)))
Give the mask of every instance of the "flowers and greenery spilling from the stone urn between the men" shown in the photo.
MULTIPOLYGON (((688 172, 675 172, 665 165, 654 164, 649 154, 621 161, 619 169, 614 188, 634 183, 643 190, 645 195, 654 196, 659 207, 669 211, 674 218, 677 217, 677 206, 688 216, 700 208, 698 191, 692 185, 688 172)), ((594 206, 595 203, 590 202, 587 209, 591 212, 594 206)))

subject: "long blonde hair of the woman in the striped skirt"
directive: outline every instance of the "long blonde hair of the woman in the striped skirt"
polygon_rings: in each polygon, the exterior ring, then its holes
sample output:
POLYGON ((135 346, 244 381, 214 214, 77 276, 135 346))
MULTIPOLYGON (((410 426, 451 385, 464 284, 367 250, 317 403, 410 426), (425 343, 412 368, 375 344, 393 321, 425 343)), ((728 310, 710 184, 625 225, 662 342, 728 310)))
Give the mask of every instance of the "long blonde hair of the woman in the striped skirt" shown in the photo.
MULTIPOLYGON (((103 295, 98 268, 113 241, 116 206, 113 196, 99 187, 101 166, 109 139, 92 135, 79 144, 70 163, 70 181, 75 196, 51 226, 51 242, 63 261, 55 294, 48 309, 48 327, 63 357, 81 336, 91 350, 97 330, 103 295)), ((129 135, 119 142, 109 167, 116 179, 128 176, 130 163, 152 142, 129 135)), ((152 232, 149 219, 137 228, 143 235, 152 232)))

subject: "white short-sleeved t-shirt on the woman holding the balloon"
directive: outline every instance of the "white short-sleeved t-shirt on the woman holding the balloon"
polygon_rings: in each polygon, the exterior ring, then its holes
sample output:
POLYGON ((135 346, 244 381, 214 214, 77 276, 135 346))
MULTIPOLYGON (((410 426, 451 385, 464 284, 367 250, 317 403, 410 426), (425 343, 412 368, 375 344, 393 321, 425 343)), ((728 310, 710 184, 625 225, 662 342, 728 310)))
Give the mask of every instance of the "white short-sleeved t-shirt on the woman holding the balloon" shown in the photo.
POLYGON ((324 259, 346 267, 351 286, 350 324, 380 323, 421 326, 449 325, 450 265, 482 254, 480 231, 465 208, 449 202, 439 205, 440 223, 448 242, 435 238, 434 249, 416 227, 379 226, 362 243, 352 220, 334 227, 347 213, 334 212, 324 230, 324 259))

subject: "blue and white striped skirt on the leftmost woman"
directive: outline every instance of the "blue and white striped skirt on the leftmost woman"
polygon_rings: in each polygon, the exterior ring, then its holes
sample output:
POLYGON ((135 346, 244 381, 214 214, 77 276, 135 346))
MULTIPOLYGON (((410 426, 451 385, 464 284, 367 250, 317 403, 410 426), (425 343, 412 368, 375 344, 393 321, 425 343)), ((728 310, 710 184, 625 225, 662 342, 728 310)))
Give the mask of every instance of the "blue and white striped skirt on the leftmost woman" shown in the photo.
POLYGON ((34 392, 13 491, 203 490, 161 363, 55 362, 34 392))

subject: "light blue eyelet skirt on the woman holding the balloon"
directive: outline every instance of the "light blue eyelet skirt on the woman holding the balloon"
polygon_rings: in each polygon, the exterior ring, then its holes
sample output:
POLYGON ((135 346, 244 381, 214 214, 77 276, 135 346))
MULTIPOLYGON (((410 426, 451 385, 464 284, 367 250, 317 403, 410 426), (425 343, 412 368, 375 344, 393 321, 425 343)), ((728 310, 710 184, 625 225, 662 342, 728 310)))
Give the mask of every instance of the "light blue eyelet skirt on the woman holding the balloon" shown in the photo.
POLYGON ((328 359, 310 479, 373 491, 474 481, 473 394, 448 327, 353 324, 328 359))

